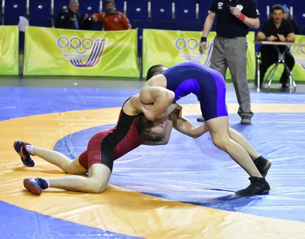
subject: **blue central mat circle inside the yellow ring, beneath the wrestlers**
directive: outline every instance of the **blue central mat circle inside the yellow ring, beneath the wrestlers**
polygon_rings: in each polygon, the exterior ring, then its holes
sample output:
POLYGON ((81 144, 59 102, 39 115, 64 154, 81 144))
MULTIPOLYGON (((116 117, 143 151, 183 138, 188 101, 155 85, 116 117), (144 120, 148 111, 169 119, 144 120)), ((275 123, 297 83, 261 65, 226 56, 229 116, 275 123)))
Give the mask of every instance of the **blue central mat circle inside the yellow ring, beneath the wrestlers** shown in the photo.
MULTIPOLYGON (((109 183, 204 207, 305 221, 305 114, 258 113, 255 117, 255 124, 240 125, 239 116, 230 115, 230 126, 272 162, 266 178, 271 186, 268 195, 235 196, 236 190, 250 183, 248 174, 213 145, 208 133, 192 139, 176 130, 168 145, 140 146, 117 159, 109 183)), ((197 124, 197 116, 188 118, 197 124)), ((75 158, 95 133, 113 126, 67 135, 54 150, 75 158)))

